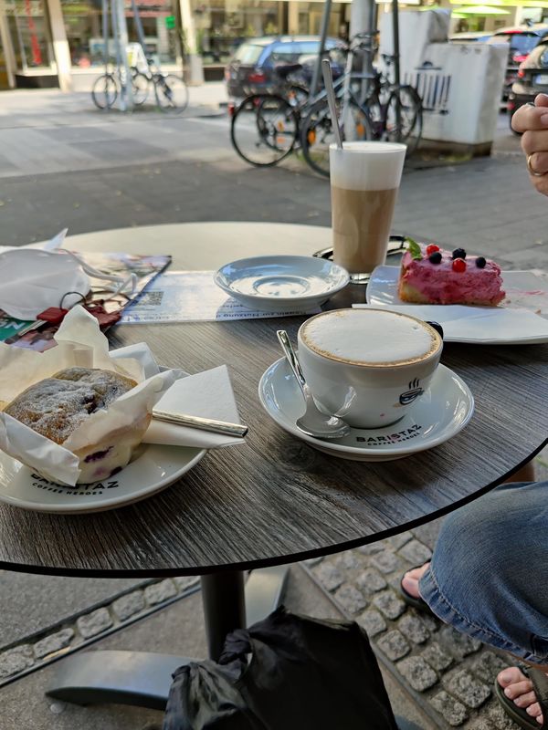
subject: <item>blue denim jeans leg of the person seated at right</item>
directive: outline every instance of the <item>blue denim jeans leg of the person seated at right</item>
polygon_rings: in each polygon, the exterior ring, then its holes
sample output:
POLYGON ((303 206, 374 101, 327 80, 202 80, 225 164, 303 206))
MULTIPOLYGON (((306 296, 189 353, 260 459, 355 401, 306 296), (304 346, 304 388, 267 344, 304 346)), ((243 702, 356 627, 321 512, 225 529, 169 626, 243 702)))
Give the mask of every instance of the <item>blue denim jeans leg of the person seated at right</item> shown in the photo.
POLYGON ((501 485, 444 521, 420 594, 441 619, 548 663, 548 482, 501 485))

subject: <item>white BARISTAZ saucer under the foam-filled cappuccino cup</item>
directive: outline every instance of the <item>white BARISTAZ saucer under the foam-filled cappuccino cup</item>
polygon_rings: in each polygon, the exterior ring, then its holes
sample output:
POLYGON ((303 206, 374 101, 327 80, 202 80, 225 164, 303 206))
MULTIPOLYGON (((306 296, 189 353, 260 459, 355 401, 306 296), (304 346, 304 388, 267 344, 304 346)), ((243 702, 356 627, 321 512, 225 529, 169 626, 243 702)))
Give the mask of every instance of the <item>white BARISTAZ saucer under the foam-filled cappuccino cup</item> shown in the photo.
POLYGON ((299 431, 295 422, 304 412, 304 401, 285 358, 263 374, 258 397, 285 431, 325 454, 358 462, 393 461, 431 449, 461 431, 474 412, 469 387, 444 365, 439 365, 430 388, 401 421, 385 428, 353 428, 342 439, 316 439, 299 431))

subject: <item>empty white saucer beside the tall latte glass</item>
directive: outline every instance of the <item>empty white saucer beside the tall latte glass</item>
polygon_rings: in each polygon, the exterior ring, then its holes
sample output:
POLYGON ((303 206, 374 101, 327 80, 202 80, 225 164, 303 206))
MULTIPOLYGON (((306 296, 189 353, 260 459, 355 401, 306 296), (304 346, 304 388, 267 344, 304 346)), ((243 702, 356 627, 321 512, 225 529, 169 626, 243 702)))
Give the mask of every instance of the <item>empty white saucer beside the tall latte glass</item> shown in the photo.
POLYGON ((255 256, 222 266, 214 281, 250 309, 307 312, 346 287, 349 276, 314 256, 255 256))

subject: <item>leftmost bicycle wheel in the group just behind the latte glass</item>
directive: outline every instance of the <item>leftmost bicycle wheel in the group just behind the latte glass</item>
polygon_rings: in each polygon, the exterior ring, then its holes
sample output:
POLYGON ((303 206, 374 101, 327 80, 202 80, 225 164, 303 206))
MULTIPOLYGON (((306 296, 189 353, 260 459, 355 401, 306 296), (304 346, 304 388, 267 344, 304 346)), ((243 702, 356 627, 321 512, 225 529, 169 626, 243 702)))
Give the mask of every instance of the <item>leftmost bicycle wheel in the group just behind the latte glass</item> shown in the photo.
POLYGON ((286 99, 254 94, 237 108, 230 140, 242 160, 257 167, 275 165, 287 157, 299 135, 299 118, 286 99))

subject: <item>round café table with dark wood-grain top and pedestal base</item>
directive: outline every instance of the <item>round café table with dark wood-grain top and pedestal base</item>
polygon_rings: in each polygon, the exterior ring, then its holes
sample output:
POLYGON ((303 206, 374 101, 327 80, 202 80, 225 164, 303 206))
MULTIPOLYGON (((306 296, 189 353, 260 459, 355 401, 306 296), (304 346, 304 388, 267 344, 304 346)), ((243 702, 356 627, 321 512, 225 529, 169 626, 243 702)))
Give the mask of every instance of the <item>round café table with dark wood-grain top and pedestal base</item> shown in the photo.
MULTIPOLYGON (((290 224, 166 224, 74 235, 65 245, 171 254, 172 270, 215 270, 248 255, 311 255, 331 245, 331 231, 290 224)), ((325 307, 358 301, 364 301, 364 287, 349 286, 325 307)), ((59 516, 0 505, 0 568, 90 577, 199 574, 209 649, 216 657, 226 632, 244 620, 244 570, 252 569, 248 584, 256 579, 258 587, 251 620, 279 597, 284 571, 276 566, 364 545, 445 515, 500 484, 545 445, 548 345, 446 344, 442 362, 468 383, 476 402, 461 433, 392 462, 321 454, 282 431, 258 400, 260 376, 280 357, 276 329, 287 329, 295 341, 302 321, 112 328, 112 347, 146 340, 168 367, 192 373, 227 364, 249 426, 247 443, 210 451, 163 492, 112 511, 59 516)), ((163 706, 165 683, 182 658, 172 657, 170 664, 158 655, 157 663, 150 655, 134 654, 121 663, 111 657, 109 673, 109 662, 97 659, 101 653, 67 661, 52 696, 163 706), (158 686, 151 689, 154 677, 158 686)))

